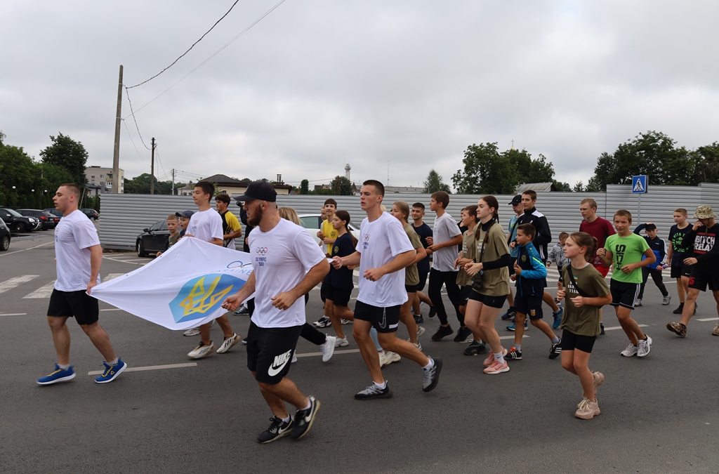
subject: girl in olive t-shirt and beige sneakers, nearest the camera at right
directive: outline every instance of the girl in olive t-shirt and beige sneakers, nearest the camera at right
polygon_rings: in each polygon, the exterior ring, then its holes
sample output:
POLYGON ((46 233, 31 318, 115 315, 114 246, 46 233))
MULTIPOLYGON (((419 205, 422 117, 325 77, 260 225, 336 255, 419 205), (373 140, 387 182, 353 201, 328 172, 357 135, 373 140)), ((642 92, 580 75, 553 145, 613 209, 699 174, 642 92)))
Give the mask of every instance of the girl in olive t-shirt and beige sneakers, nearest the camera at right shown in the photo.
POLYGON ((604 383, 601 372, 589 370, 592 347, 600 334, 599 309, 612 302, 612 295, 601 273, 589 262, 594 258, 597 240, 586 232, 574 232, 564 243, 564 255, 571 260, 564 267, 564 288, 557 298, 564 303, 562 318, 562 367, 577 375, 583 396, 574 416, 592 419, 600 414, 597 388, 604 383))

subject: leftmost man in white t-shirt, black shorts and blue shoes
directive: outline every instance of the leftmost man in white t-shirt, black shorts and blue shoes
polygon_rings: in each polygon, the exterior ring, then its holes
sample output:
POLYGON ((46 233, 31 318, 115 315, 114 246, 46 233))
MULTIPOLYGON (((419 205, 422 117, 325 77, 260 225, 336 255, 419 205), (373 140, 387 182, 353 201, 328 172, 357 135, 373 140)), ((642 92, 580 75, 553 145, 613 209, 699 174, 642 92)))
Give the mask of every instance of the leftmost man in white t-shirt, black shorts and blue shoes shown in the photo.
POLYGON ((40 385, 65 382, 75 378, 70 365, 70 331, 67 321, 75 317, 83 332, 105 357, 105 370, 96 383, 108 383, 122 373, 127 364, 115 355, 110 338, 100 327, 98 301, 90 296, 93 286, 100 283, 102 247, 92 221, 78 210, 80 189, 75 184, 63 184, 52 201, 63 219, 55 227, 55 262, 58 279, 47 308, 47 324, 58 362, 49 375, 37 379, 40 385))

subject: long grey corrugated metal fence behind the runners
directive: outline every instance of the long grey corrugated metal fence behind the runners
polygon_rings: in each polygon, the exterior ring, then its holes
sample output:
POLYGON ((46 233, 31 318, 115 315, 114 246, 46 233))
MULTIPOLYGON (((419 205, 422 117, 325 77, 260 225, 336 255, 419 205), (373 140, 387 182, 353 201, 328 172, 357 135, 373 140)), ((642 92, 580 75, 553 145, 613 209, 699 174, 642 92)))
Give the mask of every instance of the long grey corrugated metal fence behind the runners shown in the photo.
MULTIPOLYGON (((291 206, 298 214, 319 214, 325 199, 329 196, 278 196, 278 206, 291 206)), ((337 209, 349 212, 352 222, 359 225, 365 213, 359 208, 358 196, 332 196, 337 201, 337 209)), ((481 196, 474 194, 452 194, 449 197, 447 211, 459 220, 459 211, 465 206, 477 204, 481 196)), ((512 214, 509 206, 513 196, 496 196, 500 203, 500 222, 508 222, 512 214)), ((410 205, 422 202, 426 206, 425 221, 431 227, 434 213, 429 211, 429 194, 388 194, 383 204, 388 208, 395 201, 407 201, 410 205)), ((672 213, 677 207, 684 207, 692 217, 694 209, 700 204, 708 204, 719 211, 719 183, 702 183, 700 186, 651 186, 649 193, 641 195, 641 221, 639 195, 631 193, 630 186, 610 185, 606 193, 539 193, 537 209, 546 215, 557 242, 559 232, 574 232, 579 229, 582 216, 580 201, 594 198, 597 201, 597 214, 612 220, 617 209, 627 209, 634 217, 633 224, 654 222, 659 227, 660 237, 666 237, 669 227, 674 224, 672 213)), ((100 218, 100 241, 103 247, 128 249, 135 247, 137 235, 142 229, 155 222, 164 220, 168 214, 185 209, 196 209, 191 196, 165 196, 150 194, 103 194, 100 218)), ((239 219, 239 207, 230 204, 229 210, 239 219)))

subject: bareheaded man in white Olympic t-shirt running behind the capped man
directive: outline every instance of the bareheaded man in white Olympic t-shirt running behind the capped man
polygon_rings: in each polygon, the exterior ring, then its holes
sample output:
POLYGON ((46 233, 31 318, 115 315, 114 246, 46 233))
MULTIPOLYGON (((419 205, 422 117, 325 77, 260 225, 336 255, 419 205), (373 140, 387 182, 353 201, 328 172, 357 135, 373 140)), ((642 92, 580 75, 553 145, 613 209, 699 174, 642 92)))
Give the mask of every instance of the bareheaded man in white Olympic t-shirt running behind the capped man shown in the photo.
POLYGON ((399 220, 380 208, 384 194, 385 186, 379 181, 362 183, 359 206, 367 212, 367 217, 359 227, 356 251, 347 257, 332 259, 332 266, 337 269, 359 264, 359 295, 354 306, 352 336, 370 369, 372 385, 355 393, 357 400, 392 397, 392 391, 382 375, 380 357, 370 337, 372 327, 377 329, 383 349, 422 366, 423 391, 434 390, 442 368, 440 357, 427 357, 411 342, 397 337, 400 306, 407 301, 404 269, 414 261, 416 250, 399 220))

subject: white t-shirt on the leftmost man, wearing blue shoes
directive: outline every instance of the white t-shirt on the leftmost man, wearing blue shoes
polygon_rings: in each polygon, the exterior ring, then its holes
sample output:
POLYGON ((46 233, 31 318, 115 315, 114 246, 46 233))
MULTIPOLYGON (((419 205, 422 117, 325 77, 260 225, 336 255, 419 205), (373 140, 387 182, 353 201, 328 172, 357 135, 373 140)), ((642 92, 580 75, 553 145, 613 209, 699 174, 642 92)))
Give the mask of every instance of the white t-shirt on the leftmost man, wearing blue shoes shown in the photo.
MULTIPOLYGON (((82 211, 75 209, 60 219, 55 227, 55 267, 58 279, 55 289, 59 291, 80 291, 90 281, 90 249, 100 245, 100 239, 92 221, 82 211)), ((97 275, 100 283, 100 275, 97 275)))

